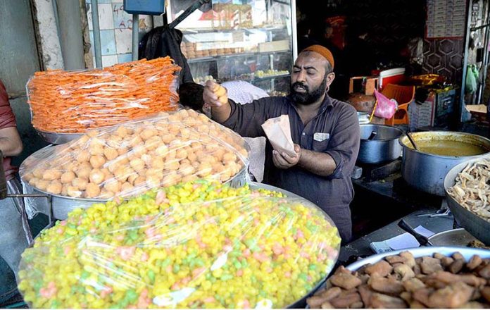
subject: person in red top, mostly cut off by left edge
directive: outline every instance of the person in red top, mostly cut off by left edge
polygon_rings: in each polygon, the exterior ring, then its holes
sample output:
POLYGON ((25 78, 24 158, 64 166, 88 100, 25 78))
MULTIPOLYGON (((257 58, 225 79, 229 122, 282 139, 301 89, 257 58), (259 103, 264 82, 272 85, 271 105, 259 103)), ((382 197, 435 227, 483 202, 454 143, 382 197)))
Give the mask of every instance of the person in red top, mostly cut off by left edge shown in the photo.
MULTIPOLYGON (((15 116, 8 103, 8 95, 0 80, 0 151, 4 154, 4 172, 8 194, 21 194, 22 187, 15 178, 17 168, 11 165, 11 156, 17 156, 23 144, 16 127, 15 116)), ((20 254, 32 242, 29 223, 22 198, 0 200, 0 256, 17 274, 20 254)), ((5 274, 0 280, 0 304, 17 292, 17 284, 5 274)))

